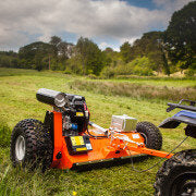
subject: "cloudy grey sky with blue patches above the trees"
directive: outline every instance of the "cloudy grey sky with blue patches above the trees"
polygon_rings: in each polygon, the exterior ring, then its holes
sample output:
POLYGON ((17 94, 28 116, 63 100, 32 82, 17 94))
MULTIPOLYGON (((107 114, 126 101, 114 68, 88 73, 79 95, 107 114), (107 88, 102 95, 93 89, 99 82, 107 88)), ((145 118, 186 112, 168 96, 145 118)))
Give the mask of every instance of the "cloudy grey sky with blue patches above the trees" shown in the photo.
POLYGON ((17 51, 56 35, 76 44, 83 36, 100 49, 164 30, 174 11, 192 0, 0 0, 0 50, 17 51))

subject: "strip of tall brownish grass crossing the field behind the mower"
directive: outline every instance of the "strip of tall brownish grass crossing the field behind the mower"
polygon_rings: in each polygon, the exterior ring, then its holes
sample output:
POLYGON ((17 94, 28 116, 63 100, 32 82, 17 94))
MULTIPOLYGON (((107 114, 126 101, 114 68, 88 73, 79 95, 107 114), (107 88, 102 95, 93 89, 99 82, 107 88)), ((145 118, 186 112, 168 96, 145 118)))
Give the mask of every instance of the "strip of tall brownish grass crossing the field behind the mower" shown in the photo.
POLYGON ((146 99, 161 99, 179 101, 181 99, 196 99, 196 87, 167 87, 151 86, 134 83, 112 83, 112 82, 91 82, 75 81, 71 83, 71 88, 94 91, 96 94, 125 96, 146 99))

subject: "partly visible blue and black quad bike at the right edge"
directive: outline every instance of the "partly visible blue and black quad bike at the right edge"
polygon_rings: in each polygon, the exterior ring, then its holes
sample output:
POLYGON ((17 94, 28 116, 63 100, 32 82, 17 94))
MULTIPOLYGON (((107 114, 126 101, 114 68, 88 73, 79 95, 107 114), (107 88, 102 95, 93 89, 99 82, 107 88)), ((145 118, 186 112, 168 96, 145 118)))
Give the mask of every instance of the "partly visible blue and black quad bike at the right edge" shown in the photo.
MULTIPOLYGON (((159 127, 175 128, 185 123, 186 136, 196 138, 195 101, 181 100, 180 103, 168 105, 168 112, 175 108, 185 110, 166 119, 159 127), (182 105, 183 101, 189 102, 191 106, 182 105)), ((196 196, 196 149, 179 151, 166 160, 157 173, 154 186, 157 196, 196 196)))

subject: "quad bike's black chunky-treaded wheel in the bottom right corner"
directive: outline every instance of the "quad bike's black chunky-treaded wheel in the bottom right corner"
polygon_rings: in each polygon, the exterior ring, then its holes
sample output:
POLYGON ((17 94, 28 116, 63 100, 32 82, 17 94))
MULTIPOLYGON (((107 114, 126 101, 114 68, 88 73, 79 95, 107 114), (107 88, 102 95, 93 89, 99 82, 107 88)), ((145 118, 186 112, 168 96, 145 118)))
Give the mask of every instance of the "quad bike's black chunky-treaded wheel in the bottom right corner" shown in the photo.
POLYGON ((195 196, 196 149, 180 151, 164 161, 154 187, 156 196, 195 196))

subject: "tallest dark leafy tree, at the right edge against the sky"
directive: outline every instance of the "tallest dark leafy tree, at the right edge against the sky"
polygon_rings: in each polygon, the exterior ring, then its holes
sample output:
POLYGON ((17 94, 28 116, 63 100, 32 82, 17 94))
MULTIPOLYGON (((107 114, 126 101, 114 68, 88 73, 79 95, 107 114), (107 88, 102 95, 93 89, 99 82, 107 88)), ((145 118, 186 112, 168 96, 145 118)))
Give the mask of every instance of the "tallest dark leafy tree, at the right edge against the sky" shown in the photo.
POLYGON ((164 45, 172 62, 184 70, 196 52, 196 1, 173 13, 164 33, 164 45))

